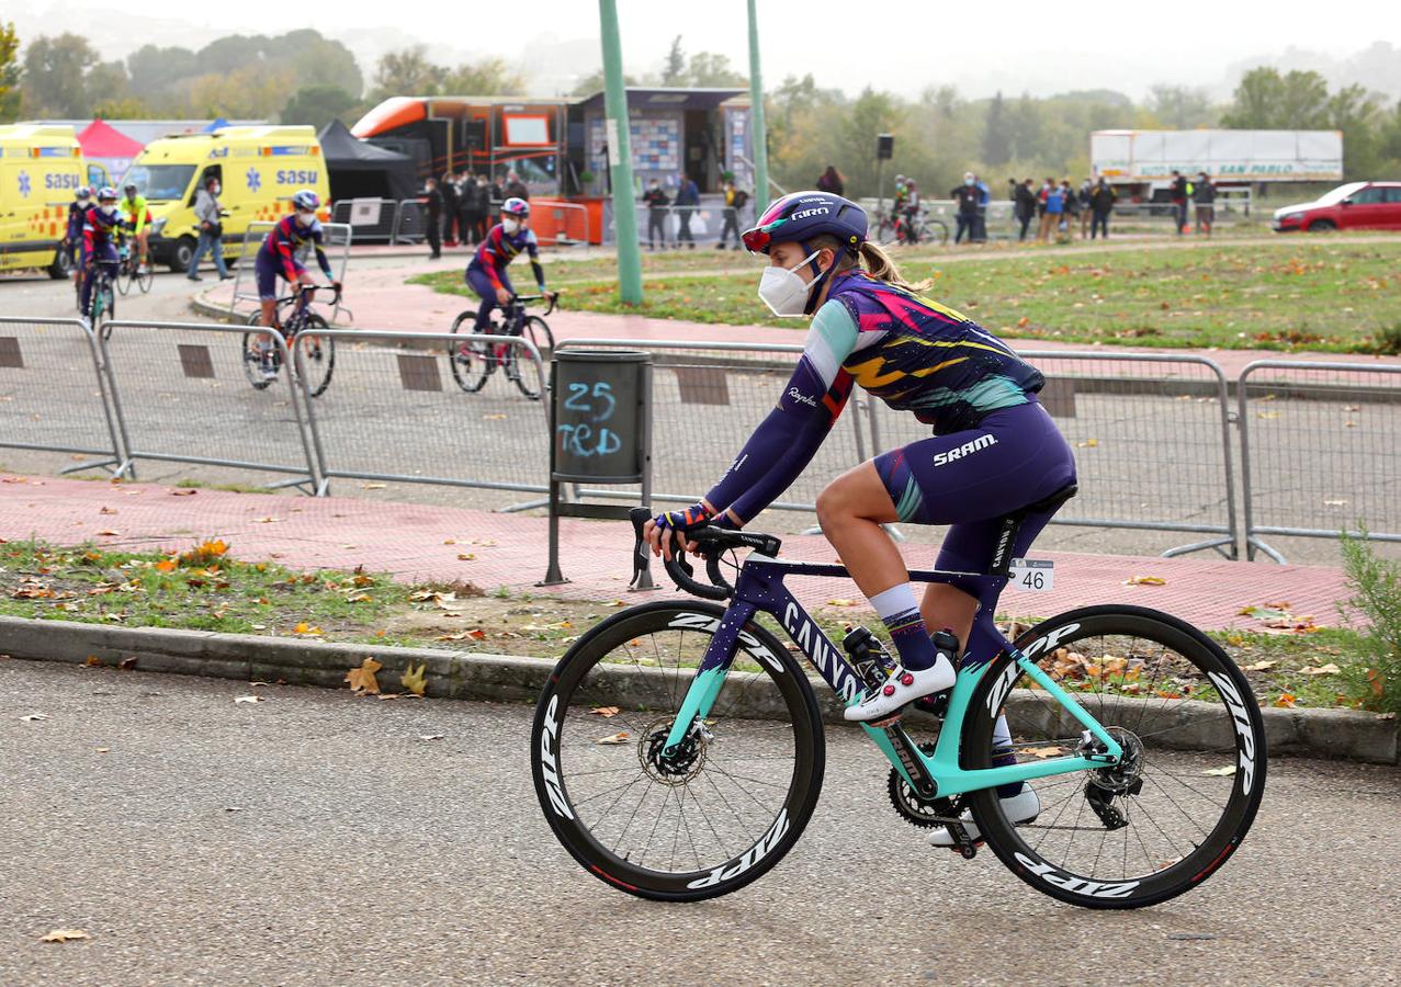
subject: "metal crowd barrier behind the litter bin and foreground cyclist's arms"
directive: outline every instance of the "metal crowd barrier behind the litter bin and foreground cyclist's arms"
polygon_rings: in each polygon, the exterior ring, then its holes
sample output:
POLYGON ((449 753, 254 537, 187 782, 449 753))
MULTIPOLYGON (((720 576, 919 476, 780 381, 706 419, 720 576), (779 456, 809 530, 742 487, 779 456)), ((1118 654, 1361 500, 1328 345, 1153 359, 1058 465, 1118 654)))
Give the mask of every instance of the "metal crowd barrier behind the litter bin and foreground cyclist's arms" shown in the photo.
MULTIPOLYGON (((679 343, 632 339, 572 339, 556 349, 621 347, 653 356, 651 500, 691 504, 734 461, 734 455, 778 403, 801 346, 679 343)), ((871 455, 866 400, 849 402, 822 448, 775 510, 813 511, 817 494, 839 473, 871 455)), ((583 496, 633 500, 640 487, 580 490, 583 496)))

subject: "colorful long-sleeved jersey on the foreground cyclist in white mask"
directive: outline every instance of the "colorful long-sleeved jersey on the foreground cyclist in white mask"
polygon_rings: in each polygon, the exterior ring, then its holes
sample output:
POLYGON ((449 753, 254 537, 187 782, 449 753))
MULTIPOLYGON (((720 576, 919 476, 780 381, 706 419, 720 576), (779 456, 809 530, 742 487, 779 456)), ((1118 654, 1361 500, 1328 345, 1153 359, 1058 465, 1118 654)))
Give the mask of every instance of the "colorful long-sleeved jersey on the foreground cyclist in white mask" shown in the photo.
POLYGON ((1026 405, 1041 372, 972 319, 862 272, 832 280, 778 407, 706 500, 748 521, 803 472, 860 384, 936 434, 1026 405))

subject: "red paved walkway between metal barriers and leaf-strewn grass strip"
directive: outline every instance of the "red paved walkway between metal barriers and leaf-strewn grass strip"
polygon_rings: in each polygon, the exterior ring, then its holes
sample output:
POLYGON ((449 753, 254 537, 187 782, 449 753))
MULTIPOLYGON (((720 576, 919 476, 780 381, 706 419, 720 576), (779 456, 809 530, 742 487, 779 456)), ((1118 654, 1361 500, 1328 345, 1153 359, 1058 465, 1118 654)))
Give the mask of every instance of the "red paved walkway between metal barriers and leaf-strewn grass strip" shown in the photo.
MULTIPOLYGON (((172 490, 0 475, 0 538, 32 535, 60 545, 95 542, 165 549, 217 536, 228 540, 240 559, 276 559, 294 568, 363 564, 394 573, 406 582, 465 580, 486 591, 504 585, 577 599, 643 598, 625 592, 632 546, 630 532, 621 522, 563 521, 562 570, 573 582, 538 589, 534 582, 545 573, 544 518, 217 490, 177 497, 172 490), (464 554, 474 557, 458 557, 464 554)), ((814 561, 835 559, 827 542, 815 536, 786 538, 785 554, 814 561)), ((1009 589, 1003 610, 1012 616, 1049 616, 1089 603, 1133 602, 1170 610, 1206 629, 1251 629, 1258 624, 1240 616, 1241 608, 1289 601, 1295 613, 1334 624, 1337 602, 1346 596, 1342 574, 1335 568, 1230 563, 1208 556, 1038 554, 1056 563, 1055 591, 1009 589), (1136 575, 1156 575, 1166 585, 1125 585, 1125 580, 1136 575)), ((916 564, 929 561, 915 559, 916 564)), ((664 578, 660 567, 653 574, 664 578)), ((862 599, 846 580, 797 580, 793 589, 808 606, 862 599)))

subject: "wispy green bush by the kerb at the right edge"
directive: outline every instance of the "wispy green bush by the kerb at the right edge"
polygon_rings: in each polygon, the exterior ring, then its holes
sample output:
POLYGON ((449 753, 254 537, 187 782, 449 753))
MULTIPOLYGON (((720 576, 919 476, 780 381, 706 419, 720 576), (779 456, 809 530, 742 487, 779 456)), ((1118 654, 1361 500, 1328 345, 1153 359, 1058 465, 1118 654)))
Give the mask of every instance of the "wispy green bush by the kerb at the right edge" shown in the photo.
POLYGON ((1342 564, 1352 589, 1342 612, 1358 619, 1362 638, 1362 661, 1346 669, 1348 683, 1363 708, 1401 713, 1401 567, 1379 559, 1366 528, 1360 531, 1360 538, 1342 538, 1342 564))

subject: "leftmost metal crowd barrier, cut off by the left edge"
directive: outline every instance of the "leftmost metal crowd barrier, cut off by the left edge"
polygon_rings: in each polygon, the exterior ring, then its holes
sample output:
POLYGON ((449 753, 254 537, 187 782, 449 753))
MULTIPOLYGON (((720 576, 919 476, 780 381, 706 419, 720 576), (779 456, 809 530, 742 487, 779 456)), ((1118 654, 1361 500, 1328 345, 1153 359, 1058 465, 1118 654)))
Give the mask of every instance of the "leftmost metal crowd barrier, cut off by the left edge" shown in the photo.
POLYGON ((0 318, 0 447, 122 462, 92 332, 80 319, 0 318), (74 374, 87 365, 91 372, 74 374))

